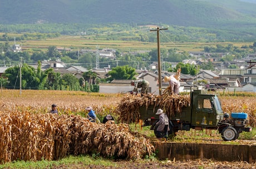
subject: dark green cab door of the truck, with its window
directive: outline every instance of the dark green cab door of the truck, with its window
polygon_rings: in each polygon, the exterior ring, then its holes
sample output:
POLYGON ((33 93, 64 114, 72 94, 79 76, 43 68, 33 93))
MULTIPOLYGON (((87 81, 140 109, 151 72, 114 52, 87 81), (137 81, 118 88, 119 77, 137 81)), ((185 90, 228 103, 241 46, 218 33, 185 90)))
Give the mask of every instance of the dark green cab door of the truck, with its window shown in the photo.
POLYGON ((194 101, 192 125, 215 127, 216 114, 213 107, 213 99, 208 95, 198 95, 194 101))

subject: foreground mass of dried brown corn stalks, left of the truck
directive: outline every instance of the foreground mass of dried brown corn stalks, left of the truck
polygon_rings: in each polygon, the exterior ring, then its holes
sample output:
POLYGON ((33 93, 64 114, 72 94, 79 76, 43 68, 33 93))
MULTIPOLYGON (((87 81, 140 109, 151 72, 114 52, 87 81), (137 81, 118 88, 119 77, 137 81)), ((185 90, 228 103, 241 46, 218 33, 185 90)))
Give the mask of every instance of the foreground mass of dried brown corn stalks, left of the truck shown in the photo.
POLYGON ((0 162, 58 160, 67 155, 99 153, 140 159, 154 146, 125 124, 96 124, 79 115, 0 111, 0 162))

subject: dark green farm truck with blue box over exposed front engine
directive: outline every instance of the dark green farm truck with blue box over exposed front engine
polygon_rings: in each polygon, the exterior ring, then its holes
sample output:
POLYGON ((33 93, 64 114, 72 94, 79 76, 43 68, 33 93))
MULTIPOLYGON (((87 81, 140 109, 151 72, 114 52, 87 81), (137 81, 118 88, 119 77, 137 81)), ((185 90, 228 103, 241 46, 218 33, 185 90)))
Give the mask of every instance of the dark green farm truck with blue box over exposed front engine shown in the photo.
MULTIPOLYGON (((158 115, 155 115, 159 107, 141 106, 140 119, 144 120, 144 125, 152 125, 155 134, 155 126, 158 115)), ((170 113, 169 113, 170 114, 170 113)), ((182 108, 181 112, 174 112, 169 116, 169 134, 174 134, 179 130, 195 129, 215 129, 221 134, 225 141, 236 140, 243 131, 252 131, 248 125, 247 114, 243 112, 232 112, 231 116, 224 113, 218 96, 204 94, 202 90, 194 90, 190 93, 190 106, 182 108)))

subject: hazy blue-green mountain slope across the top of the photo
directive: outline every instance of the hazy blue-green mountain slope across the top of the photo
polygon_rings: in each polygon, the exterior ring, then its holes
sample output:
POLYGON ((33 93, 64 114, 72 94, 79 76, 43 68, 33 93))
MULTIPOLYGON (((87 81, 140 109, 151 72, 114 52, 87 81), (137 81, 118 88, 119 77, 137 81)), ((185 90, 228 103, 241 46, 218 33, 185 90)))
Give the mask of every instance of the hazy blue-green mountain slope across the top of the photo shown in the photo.
POLYGON ((0 24, 164 23, 186 27, 256 26, 255 0, 1 0, 0 24))

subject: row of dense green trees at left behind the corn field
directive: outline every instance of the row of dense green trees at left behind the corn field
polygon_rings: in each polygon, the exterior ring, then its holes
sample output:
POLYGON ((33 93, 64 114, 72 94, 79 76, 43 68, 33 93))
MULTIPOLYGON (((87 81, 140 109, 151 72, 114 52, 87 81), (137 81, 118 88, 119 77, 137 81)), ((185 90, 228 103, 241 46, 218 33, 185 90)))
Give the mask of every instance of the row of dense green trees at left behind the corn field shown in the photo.
POLYGON ((37 69, 27 64, 11 66, 1 76, 0 82, 6 89, 33 89, 33 90, 75 90, 98 92, 99 81, 97 74, 91 70, 82 74, 78 79, 72 73, 56 73, 52 68, 41 70, 41 62, 37 69), (21 74, 21 76, 20 76, 21 74), (21 79, 21 83, 20 83, 21 79))

